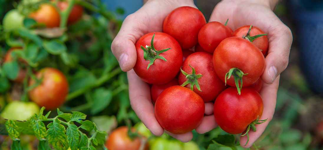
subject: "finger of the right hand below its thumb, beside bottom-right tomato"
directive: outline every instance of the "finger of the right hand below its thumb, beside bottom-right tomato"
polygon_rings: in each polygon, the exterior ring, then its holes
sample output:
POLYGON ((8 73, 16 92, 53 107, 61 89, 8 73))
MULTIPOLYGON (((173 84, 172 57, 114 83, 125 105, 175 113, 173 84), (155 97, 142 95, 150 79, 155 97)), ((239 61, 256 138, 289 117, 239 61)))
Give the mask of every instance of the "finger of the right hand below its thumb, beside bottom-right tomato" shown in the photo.
POLYGON ((276 78, 275 82, 273 84, 263 84, 263 88, 260 91, 260 95, 263 99, 264 103, 264 111, 259 118, 259 120, 265 120, 267 119, 266 122, 261 123, 261 124, 255 124, 256 126, 256 131, 253 132, 250 130, 248 132, 249 134, 249 141, 247 142, 247 136, 241 136, 240 138, 240 145, 244 148, 250 147, 253 145, 253 143, 260 137, 260 135, 265 131, 268 123, 271 121, 273 118, 273 115, 275 113, 275 108, 276 108, 276 98, 277 98, 277 90, 278 90, 278 85, 279 85, 279 76, 276 78))

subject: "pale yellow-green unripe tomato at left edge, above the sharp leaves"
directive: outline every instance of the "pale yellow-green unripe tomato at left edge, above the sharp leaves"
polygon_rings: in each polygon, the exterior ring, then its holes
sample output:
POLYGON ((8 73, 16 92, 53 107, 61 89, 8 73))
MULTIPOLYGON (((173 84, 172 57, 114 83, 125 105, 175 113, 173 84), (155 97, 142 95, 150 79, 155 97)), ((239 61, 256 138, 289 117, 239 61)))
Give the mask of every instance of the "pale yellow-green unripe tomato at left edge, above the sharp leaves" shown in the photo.
POLYGON ((28 120, 35 113, 39 113, 39 106, 34 102, 12 101, 0 114, 8 120, 28 120))

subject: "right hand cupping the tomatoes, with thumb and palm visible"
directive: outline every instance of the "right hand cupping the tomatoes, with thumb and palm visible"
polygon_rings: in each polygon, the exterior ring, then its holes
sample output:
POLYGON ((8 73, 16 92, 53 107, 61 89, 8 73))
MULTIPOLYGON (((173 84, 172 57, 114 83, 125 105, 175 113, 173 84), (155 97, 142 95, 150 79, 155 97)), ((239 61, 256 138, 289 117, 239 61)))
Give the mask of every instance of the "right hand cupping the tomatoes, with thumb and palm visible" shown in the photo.
MULTIPOLYGON (((279 74, 287 67, 293 40, 290 29, 271 10, 274 5, 272 0, 222 0, 215 6, 209 20, 209 22, 218 21, 224 24, 229 19, 227 26, 233 30, 244 25, 254 25, 268 34, 268 55, 265 59, 265 71, 261 76, 264 84, 260 91, 264 102, 264 111, 262 117, 259 118, 260 120, 268 118, 268 120, 265 123, 257 124, 256 132, 249 132, 247 145, 244 145, 247 137, 241 137, 241 146, 245 148, 250 147, 264 132, 275 113, 279 74)), ((214 123, 215 121, 213 121, 214 123)), ((196 131, 204 133, 211 129, 213 128, 204 128, 203 132, 196 131)))

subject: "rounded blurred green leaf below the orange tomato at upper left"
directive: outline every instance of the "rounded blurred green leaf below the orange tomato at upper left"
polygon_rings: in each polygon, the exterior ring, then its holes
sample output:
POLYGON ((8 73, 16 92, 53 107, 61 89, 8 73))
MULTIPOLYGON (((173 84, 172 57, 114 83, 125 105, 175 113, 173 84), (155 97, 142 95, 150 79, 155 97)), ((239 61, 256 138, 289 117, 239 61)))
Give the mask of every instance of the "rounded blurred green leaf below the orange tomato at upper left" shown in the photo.
POLYGON ((45 50, 53 55, 59 55, 62 52, 66 51, 66 45, 58 40, 58 39, 53 39, 50 41, 44 41, 43 42, 43 47, 45 48, 45 50))

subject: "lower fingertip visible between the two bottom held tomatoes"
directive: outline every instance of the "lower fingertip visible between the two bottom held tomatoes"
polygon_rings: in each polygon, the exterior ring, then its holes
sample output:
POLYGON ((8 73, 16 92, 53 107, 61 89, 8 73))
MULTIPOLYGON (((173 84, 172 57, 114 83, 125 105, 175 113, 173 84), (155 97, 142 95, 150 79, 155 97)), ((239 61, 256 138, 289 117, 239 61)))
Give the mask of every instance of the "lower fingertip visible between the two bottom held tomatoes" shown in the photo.
POLYGON ((203 134, 216 128, 218 124, 215 122, 214 115, 204 116, 202 122, 195 128, 195 131, 199 134, 203 134))

